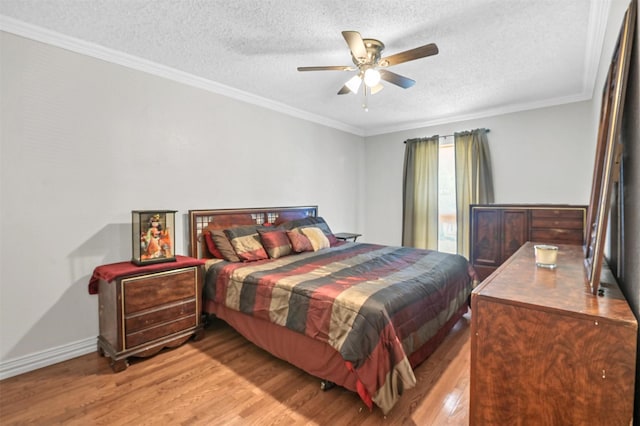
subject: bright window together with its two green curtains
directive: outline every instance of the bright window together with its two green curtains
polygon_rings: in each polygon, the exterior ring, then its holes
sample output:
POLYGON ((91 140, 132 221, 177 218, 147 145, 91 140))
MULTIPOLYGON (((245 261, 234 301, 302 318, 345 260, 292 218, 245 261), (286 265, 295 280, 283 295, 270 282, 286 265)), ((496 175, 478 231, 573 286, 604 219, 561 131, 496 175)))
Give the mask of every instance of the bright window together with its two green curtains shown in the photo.
POLYGON ((493 202, 487 132, 405 141, 402 245, 469 256, 469 206, 493 202))

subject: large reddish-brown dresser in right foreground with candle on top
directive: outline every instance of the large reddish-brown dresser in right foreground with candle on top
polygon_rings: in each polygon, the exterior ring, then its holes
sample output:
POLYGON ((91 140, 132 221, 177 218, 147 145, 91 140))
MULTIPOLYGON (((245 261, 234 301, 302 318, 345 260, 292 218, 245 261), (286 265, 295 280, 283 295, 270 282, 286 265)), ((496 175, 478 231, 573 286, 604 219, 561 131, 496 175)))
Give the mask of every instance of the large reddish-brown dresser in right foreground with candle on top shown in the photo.
POLYGON ((638 323, 613 278, 591 294, 583 260, 559 245, 538 268, 527 243, 473 291, 471 425, 630 424, 638 323))

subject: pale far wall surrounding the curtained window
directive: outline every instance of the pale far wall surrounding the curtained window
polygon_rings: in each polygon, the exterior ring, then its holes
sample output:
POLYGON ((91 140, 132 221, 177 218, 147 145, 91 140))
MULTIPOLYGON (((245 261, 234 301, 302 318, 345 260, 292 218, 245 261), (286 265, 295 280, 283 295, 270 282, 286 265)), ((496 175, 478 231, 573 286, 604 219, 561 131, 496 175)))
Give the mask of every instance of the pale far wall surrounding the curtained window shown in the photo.
POLYGON ((416 137, 488 128, 496 203, 588 204, 590 114, 590 102, 577 102, 367 138, 366 240, 401 243, 403 142, 416 137))

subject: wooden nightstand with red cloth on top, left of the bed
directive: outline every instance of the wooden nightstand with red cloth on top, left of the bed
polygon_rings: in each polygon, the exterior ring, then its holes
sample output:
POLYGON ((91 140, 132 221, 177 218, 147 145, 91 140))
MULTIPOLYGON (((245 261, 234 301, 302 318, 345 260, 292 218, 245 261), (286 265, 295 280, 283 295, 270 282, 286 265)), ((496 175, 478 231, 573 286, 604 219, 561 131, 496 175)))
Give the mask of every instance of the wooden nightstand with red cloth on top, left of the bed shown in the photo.
POLYGON ((203 261, 176 259, 147 266, 121 262, 94 270, 92 284, 97 284, 100 306, 98 352, 111 358, 114 372, 126 369, 131 356, 155 355, 203 336, 203 261))

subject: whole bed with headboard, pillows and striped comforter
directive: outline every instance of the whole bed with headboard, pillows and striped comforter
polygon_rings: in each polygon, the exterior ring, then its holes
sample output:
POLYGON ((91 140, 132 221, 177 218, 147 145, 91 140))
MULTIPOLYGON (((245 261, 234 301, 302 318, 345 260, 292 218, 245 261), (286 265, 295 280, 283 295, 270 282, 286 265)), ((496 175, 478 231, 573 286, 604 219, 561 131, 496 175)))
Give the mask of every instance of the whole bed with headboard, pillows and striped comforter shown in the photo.
POLYGON ((317 206, 190 210, 189 237, 205 314, 385 414, 473 286, 464 257, 337 240, 317 206))

